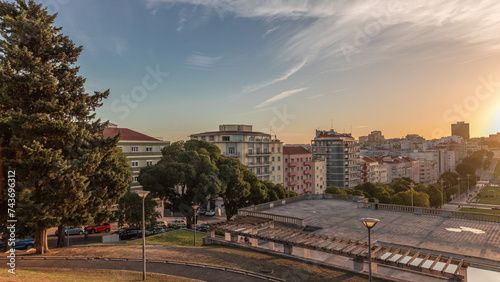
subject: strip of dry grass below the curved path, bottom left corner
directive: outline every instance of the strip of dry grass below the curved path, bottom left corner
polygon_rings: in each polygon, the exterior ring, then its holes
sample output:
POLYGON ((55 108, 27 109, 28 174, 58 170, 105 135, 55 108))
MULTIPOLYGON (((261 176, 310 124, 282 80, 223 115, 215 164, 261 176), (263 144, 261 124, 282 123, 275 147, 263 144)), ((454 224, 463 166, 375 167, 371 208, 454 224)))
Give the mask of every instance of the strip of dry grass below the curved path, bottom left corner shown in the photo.
MULTIPOLYGON (((10 274, 6 269, 0 272, 0 281, 142 281, 141 272, 127 270, 23 268, 10 274)), ((148 280, 187 282, 198 281, 165 274, 148 273, 148 280)))

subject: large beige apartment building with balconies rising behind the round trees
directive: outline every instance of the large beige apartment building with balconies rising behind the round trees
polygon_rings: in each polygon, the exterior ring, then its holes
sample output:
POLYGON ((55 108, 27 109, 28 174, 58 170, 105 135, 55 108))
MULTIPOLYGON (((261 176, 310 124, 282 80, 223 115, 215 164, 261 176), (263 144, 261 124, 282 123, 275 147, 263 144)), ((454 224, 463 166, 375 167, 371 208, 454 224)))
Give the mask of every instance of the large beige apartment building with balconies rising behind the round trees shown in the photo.
POLYGON ((196 133, 190 138, 214 144, 223 155, 239 159, 260 180, 283 183, 282 143, 271 134, 253 131, 252 125, 223 124, 219 131, 196 133))

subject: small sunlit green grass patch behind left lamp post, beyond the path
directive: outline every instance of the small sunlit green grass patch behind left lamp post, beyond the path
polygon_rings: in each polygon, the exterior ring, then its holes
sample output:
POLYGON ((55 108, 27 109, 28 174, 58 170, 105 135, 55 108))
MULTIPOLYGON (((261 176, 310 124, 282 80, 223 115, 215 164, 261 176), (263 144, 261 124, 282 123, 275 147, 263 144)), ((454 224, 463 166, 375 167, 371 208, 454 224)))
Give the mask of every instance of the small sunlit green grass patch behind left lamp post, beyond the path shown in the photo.
MULTIPOLYGON (((201 246, 203 237, 206 234, 196 232, 196 246, 201 246)), ((160 235, 146 237, 146 244, 156 245, 175 245, 175 246, 193 246, 194 232, 191 230, 176 230, 160 235)), ((142 239, 133 240, 129 244, 142 244, 142 239)))

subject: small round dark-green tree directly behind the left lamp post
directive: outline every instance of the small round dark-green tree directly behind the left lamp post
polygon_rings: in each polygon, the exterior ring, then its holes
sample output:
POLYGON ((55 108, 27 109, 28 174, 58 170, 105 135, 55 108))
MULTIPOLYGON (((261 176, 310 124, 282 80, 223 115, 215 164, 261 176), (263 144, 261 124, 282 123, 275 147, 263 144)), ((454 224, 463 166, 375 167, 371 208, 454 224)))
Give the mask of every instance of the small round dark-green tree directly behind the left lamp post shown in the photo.
MULTIPOLYGON (((160 213, 155 210, 157 206, 154 197, 151 194, 144 199, 144 217, 146 224, 154 226, 160 213)), ((142 198, 136 193, 127 192, 118 203, 119 215, 118 224, 123 226, 127 224, 132 228, 142 228, 142 198)))

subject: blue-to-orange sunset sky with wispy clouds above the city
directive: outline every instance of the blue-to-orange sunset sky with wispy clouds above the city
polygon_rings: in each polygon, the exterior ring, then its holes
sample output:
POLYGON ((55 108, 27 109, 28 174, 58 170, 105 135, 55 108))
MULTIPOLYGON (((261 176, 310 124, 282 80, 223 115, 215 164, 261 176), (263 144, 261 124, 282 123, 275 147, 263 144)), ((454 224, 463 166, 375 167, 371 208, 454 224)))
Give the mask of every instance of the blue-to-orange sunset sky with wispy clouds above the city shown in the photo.
POLYGON ((39 0, 84 50, 98 117, 177 141, 251 124, 287 143, 500 132, 500 2, 39 0))

